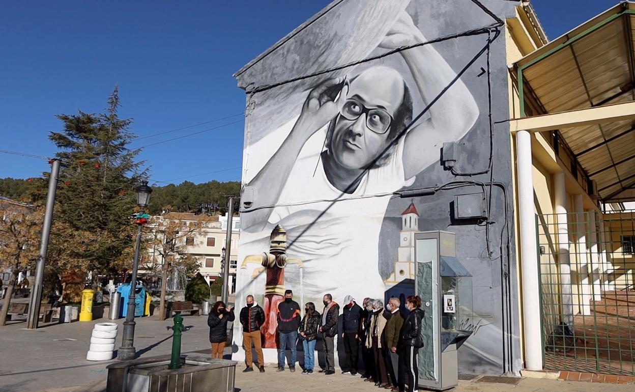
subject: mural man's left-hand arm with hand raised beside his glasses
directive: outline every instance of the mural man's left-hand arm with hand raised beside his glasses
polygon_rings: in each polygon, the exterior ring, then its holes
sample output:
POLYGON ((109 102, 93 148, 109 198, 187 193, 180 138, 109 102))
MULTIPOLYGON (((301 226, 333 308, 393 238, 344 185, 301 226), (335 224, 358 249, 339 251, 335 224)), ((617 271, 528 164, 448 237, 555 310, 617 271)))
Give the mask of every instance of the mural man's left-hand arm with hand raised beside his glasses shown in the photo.
MULTIPOLYGON (((344 78, 328 79, 313 88, 302 105, 300 117, 293 125, 291 132, 269 159, 265 166, 253 177, 247 186, 261 191, 251 208, 275 205, 280 198, 283 186, 281 179, 286 179, 302 150, 302 146, 318 132, 328 121, 333 119, 344 104, 348 93, 348 84, 344 78), (343 84, 341 88, 339 85, 343 84)), ((272 208, 262 208, 250 212, 251 227, 264 228, 267 225, 272 208), (253 214, 253 215, 251 215, 253 214)), ((247 208, 245 212, 249 212, 247 208)))

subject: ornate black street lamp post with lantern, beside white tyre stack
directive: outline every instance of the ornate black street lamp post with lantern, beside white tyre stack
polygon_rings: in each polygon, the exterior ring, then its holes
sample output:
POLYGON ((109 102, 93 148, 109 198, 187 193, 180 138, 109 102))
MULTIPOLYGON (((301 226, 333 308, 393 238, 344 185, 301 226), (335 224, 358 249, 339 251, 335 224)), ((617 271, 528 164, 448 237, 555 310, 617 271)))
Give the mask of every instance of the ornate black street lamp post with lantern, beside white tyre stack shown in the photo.
MULTIPOLYGON (((123 323, 123 339, 121 347, 117 351, 117 359, 133 360, 137 355, 134 346, 135 341, 135 289, 137 288, 137 268, 139 266, 139 248, 141 247, 141 227, 147 222, 144 217, 144 208, 150 202, 150 193, 152 188, 148 186, 147 181, 142 181, 141 185, 135 189, 137 191, 137 205, 140 212, 137 213, 137 244, 135 245, 135 259, 132 264, 132 278, 130 280, 130 293, 128 294, 128 310, 126 313, 126 321, 123 323)), ((146 215, 147 216, 147 215, 146 215)))

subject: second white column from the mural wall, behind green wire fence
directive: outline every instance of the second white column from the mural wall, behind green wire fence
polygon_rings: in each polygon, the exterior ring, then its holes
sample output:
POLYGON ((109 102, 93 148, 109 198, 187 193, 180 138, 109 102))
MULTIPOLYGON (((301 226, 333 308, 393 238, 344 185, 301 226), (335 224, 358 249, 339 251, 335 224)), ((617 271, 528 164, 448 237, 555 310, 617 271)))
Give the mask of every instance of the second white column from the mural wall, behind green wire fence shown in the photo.
POLYGON ((560 276, 560 304, 562 321, 573 329, 573 295, 571 290, 571 257, 566 210, 565 173, 554 173, 554 199, 558 226, 558 270, 560 276))

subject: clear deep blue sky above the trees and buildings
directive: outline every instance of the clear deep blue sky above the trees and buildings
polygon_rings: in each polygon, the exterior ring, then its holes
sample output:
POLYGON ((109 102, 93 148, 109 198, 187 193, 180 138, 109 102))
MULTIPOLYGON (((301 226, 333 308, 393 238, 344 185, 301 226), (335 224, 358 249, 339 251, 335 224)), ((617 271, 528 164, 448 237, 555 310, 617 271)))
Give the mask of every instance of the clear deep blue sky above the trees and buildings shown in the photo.
MULTIPOLYGON (((465 0, 467 1, 467 0, 465 0)), ((102 111, 119 84, 122 117, 143 138, 239 114, 232 74, 328 4, 276 1, 7 1, 0 12, 0 149, 52 156, 55 114, 102 111)), ((555 38, 617 0, 534 0, 555 38)), ((241 116, 136 141, 153 181, 238 180, 241 116), (215 173, 210 173, 215 172, 215 173), (206 173, 206 174, 203 174, 206 173)), ((0 153, 0 178, 48 170, 41 159, 0 153)))

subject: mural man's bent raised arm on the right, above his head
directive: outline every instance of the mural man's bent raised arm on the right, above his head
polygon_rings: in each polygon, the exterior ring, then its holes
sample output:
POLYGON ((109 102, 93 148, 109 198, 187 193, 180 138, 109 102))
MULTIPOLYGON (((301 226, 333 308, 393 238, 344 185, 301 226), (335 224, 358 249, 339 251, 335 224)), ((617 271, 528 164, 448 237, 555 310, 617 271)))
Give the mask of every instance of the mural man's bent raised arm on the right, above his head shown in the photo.
MULTIPOLYGON (((403 11, 380 46, 392 50, 425 41, 410 15, 403 11)), ((457 76, 431 44, 399 53, 415 79, 424 104, 429 104, 457 76)), ((429 112, 431 118, 413 126, 406 135, 403 152, 406 179, 417 175, 438 160, 436 151, 443 142, 452 142, 463 137, 472 128, 479 114, 474 97, 461 79, 434 102, 429 112)))

